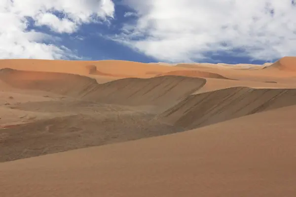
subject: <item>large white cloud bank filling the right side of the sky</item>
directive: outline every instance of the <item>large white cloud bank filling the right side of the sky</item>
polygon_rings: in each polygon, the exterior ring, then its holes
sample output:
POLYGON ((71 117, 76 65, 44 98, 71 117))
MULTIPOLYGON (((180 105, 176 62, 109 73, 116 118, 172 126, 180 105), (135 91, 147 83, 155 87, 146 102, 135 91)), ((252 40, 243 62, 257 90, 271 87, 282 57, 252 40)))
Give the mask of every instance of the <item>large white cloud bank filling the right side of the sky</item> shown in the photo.
POLYGON ((206 59, 209 53, 233 53, 235 49, 254 60, 296 55, 294 0, 125 0, 125 3, 139 18, 126 24, 113 39, 161 61, 198 61, 206 59))

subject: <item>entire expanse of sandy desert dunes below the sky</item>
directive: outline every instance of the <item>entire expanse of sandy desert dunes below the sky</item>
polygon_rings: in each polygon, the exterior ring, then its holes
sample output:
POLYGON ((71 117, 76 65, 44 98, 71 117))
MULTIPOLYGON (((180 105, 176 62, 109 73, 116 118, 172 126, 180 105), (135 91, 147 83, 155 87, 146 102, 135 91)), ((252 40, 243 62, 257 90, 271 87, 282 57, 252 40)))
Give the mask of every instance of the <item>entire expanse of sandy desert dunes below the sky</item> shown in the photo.
POLYGON ((294 66, 0 60, 0 197, 294 197, 294 66))

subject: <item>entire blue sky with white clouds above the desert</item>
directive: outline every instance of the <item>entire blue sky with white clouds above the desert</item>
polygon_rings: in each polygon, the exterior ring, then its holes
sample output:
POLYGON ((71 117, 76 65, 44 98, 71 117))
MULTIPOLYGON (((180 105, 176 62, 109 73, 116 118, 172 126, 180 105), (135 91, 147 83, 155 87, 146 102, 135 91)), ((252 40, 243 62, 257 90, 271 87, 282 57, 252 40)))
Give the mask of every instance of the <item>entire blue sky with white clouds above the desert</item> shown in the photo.
POLYGON ((0 59, 263 64, 295 46, 296 0, 0 0, 0 59))

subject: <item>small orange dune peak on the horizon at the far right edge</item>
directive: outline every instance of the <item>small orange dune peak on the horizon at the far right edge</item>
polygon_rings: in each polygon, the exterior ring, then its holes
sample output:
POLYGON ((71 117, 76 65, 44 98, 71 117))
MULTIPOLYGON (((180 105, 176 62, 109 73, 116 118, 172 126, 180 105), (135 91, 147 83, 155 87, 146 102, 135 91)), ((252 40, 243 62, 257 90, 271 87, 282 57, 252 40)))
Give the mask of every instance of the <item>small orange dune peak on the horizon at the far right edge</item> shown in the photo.
POLYGON ((274 64, 265 67, 265 69, 279 69, 284 71, 296 71, 296 57, 284 57, 276 61, 274 64))

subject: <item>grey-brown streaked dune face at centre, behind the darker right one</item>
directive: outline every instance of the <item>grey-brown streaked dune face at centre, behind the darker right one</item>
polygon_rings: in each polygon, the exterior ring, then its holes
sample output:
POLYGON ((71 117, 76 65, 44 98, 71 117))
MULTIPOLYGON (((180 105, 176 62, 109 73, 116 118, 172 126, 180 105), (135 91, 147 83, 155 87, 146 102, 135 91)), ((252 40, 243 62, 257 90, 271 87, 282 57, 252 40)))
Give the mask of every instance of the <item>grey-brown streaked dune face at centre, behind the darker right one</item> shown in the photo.
POLYGON ((184 76, 119 79, 96 86, 85 93, 82 99, 133 106, 156 105, 163 108, 184 99, 205 83, 205 79, 184 76))

